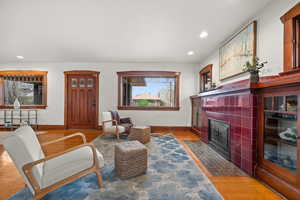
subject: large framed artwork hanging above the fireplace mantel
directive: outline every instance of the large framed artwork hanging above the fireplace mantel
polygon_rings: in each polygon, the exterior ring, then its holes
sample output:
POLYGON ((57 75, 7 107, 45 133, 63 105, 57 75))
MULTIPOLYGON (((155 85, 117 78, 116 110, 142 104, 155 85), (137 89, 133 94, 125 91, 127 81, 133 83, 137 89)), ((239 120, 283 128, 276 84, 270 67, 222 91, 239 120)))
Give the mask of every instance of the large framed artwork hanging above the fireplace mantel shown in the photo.
POLYGON ((220 80, 244 73, 247 61, 256 57, 256 28, 253 21, 220 48, 220 80))

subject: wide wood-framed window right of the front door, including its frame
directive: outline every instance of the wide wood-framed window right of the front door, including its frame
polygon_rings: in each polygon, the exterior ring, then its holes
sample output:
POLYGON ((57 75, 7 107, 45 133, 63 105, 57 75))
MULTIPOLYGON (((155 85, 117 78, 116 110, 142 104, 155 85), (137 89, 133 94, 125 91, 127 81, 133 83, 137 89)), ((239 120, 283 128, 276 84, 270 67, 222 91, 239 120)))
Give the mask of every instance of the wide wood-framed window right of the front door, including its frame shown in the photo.
POLYGON ((179 110, 178 72, 118 72, 120 110, 179 110))

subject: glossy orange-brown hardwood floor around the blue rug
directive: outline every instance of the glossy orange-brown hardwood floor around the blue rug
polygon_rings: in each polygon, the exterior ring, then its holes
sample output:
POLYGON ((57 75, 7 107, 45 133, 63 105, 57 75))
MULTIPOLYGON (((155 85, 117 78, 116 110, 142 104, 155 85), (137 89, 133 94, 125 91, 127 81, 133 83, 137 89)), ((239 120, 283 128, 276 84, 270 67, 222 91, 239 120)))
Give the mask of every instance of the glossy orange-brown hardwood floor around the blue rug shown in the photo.
MULTIPOLYGON (((49 130, 48 133, 38 136, 40 142, 50 141, 62 136, 70 135, 75 132, 82 132, 86 135, 87 141, 90 142, 101 134, 97 130, 49 130)), ((215 185, 225 200, 279 200, 282 199, 268 187, 251 177, 214 177, 212 176, 197 157, 193 154, 184 140, 199 140, 199 137, 192 132, 173 131, 176 138, 181 142, 187 152, 192 156, 197 165, 204 171, 206 176, 215 185)), ((49 145, 44 149, 45 154, 56 153, 73 146, 81 144, 80 138, 73 138, 67 141, 49 145)), ((7 199, 11 195, 20 191, 25 185, 18 174, 8 154, 0 145, 0 199, 7 199)))

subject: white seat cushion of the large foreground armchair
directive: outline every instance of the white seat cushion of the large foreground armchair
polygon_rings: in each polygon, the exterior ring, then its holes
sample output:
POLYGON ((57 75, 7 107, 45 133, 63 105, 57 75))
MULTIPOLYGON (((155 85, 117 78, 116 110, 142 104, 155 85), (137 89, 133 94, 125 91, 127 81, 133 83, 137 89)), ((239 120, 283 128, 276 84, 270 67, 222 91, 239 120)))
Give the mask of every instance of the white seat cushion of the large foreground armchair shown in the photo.
MULTIPOLYGON (((96 150, 99 166, 104 166, 102 154, 96 150)), ((93 152, 90 147, 82 147, 48 160, 44 164, 42 188, 64 180, 93 165, 93 152)))

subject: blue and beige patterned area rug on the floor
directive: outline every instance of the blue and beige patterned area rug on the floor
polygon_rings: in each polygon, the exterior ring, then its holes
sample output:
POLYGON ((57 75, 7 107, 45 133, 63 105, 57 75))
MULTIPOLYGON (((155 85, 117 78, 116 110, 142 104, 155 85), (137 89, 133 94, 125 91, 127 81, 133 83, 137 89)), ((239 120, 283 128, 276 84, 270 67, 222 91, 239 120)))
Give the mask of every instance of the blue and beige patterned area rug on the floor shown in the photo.
MULTIPOLYGON (((196 166, 182 145, 172 135, 155 135, 147 144, 147 174, 128 180, 119 179, 114 171, 112 138, 97 138, 93 143, 103 153, 102 169, 105 188, 98 187, 94 174, 85 176, 43 200, 222 200, 204 173, 196 166)), ((30 200, 25 188, 9 200, 30 200)))

